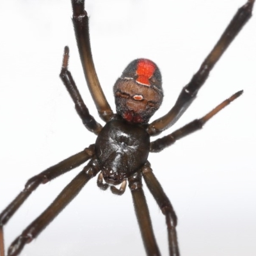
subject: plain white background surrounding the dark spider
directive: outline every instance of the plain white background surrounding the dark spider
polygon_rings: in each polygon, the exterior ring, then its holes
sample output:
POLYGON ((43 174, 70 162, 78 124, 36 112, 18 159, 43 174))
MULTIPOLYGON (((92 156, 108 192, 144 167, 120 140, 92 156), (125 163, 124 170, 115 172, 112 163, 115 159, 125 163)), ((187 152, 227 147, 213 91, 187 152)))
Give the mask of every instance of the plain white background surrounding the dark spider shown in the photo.
MULTIPOLYGON (((112 86, 135 58, 149 58, 163 75, 164 115, 245 0, 88 0, 95 67, 112 108, 112 86)), ((70 1, 0 3, 0 209, 26 180, 95 141, 74 110, 58 75, 63 47, 90 113, 70 17, 70 1)), ((251 256, 256 253, 256 17, 211 72, 189 110, 163 134, 200 118, 232 93, 244 94, 202 131, 149 160, 179 217, 180 252, 251 256)), ((81 167, 82 168, 82 167, 81 167)), ((4 227, 6 246, 42 212, 81 168, 40 186, 4 227)), ((159 248, 168 255, 164 217, 147 201, 159 248)), ((100 191, 96 179, 21 255, 145 255, 129 188, 100 191)))

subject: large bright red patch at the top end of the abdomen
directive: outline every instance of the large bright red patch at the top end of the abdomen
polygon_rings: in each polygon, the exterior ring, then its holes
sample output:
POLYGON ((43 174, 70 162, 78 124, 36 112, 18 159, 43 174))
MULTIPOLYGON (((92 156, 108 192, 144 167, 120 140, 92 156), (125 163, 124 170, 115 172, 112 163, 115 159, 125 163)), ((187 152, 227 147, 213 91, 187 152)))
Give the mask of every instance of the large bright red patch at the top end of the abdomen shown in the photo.
POLYGON ((136 79, 136 82, 150 86, 149 79, 153 76, 155 70, 156 65, 152 61, 140 59, 137 64, 136 74, 138 75, 138 78, 136 79))

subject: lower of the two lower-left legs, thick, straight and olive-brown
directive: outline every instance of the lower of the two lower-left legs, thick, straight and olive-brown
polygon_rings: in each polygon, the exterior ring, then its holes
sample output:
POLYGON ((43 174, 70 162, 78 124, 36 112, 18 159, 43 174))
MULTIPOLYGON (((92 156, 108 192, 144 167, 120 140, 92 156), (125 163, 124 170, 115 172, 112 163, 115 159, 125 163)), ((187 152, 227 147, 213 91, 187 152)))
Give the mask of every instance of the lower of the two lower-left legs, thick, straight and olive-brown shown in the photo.
POLYGON ((99 172, 93 158, 64 189, 52 204, 17 237, 8 249, 8 256, 18 255, 26 243, 30 243, 75 198, 83 186, 99 172))

